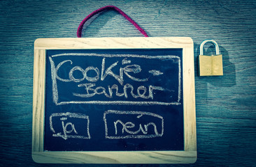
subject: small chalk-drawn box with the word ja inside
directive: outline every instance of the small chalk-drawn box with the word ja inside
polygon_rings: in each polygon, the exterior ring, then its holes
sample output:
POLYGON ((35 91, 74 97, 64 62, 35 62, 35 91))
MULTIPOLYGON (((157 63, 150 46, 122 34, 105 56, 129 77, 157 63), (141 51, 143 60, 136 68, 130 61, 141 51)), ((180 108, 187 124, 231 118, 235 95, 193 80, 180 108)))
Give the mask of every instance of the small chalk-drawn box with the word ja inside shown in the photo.
POLYGON ((50 130, 53 133, 52 136, 61 137, 64 140, 68 138, 90 139, 89 117, 80 113, 52 113, 50 130), (78 121, 80 119, 82 121, 78 121), (76 127, 80 130, 78 131, 76 127))

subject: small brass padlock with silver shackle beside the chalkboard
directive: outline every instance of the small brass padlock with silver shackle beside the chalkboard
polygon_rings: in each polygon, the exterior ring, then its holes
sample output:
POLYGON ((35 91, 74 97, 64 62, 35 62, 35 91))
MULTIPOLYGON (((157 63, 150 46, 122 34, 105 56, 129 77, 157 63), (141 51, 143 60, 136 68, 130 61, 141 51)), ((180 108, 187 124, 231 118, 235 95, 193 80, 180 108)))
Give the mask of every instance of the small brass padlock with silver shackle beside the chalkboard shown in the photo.
POLYGON ((215 40, 204 40, 200 45, 199 55, 199 76, 220 76, 223 75, 222 54, 219 52, 219 46, 215 40), (206 42, 212 42, 215 45, 216 55, 204 55, 204 45, 206 42))

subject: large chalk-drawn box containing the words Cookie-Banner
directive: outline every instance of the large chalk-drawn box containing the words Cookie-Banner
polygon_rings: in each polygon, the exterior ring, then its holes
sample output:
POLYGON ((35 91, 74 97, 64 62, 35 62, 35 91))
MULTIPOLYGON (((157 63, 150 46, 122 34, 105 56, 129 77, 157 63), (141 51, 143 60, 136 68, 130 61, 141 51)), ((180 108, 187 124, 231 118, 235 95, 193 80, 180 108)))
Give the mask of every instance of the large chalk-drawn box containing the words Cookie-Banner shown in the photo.
MULTIPOLYGON (((82 60, 82 59, 81 59, 82 60)), ((61 104, 129 104, 129 105, 180 105, 181 67, 178 56, 145 56, 133 54, 55 54, 49 56, 52 79, 52 100, 61 104), (66 56, 62 61, 58 57, 66 56), (95 57, 96 61, 87 61, 86 65, 74 61, 73 56, 95 57), (136 61, 136 58, 140 61, 136 61), (173 63, 178 67, 173 73, 175 88, 162 79, 169 74, 157 66, 147 67, 149 63, 173 63), (136 62, 136 63, 134 63, 136 62), (143 64, 141 64, 142 62, 143 64), (65 73, 66 72, 66 73, 65 73), (64 74, 63 74, 64 73, 64 74), (158 81, 158 82, 157 82, 158 81), (59 84, 70 84, 73 100, 63 101, 59 97, 59 84), (159 83, 156 84, 155 83, 159 83), (178 92, 176 92, 178 91, 178 92), (164 96, 163 96, 164 95, 164 96), (79 99, 80 98, 80 99, 79 99), (100 100, 98 100, 100 99, 100 100)), ((172 84, 173 85, 173 84, 172 84)), ((65 90, 68 92, 69 90, 65 90)))

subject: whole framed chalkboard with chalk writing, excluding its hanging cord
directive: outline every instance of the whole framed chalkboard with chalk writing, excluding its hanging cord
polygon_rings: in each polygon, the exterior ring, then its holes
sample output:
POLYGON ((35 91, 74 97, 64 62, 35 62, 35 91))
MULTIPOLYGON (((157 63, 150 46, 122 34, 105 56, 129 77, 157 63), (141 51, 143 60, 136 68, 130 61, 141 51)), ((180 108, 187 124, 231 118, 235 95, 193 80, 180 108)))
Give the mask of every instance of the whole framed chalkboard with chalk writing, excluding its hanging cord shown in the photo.
POLYGON ((38 39, 34 47, 34 161, 196 160, 190 38, 38 39))

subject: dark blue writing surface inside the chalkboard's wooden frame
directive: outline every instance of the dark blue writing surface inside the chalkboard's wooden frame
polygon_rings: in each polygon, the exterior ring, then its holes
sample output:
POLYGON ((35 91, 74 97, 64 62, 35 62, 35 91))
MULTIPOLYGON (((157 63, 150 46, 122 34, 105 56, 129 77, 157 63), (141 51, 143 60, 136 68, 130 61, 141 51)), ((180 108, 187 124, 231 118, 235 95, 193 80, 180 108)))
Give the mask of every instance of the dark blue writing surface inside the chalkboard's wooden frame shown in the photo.
POLYGON ((48 50, 44 149, 184 150, 182 54, 48 50))

